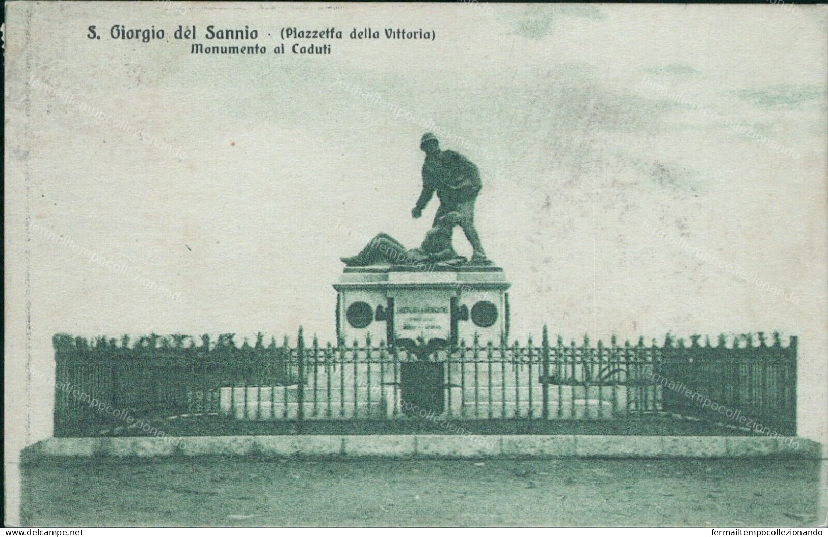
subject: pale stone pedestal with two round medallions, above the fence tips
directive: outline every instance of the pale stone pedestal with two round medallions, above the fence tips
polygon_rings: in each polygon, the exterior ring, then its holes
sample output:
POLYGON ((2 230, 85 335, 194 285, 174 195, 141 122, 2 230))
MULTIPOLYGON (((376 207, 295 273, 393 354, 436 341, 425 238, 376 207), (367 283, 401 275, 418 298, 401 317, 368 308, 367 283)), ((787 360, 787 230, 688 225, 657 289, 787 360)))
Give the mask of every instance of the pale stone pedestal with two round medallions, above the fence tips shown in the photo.
POLYGON ((334 285, 337 335, 432 346, 499 344, 508 337, 509 283, 497 266, 345 267, 334 285))

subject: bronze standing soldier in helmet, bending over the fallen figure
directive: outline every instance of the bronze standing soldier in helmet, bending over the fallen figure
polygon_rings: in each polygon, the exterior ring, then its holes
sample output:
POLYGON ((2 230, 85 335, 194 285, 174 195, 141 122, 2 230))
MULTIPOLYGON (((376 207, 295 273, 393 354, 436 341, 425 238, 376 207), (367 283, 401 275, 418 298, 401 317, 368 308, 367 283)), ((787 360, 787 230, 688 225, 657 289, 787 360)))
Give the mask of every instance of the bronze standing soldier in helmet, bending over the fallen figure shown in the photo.
POLYGON ((457 224, 474 249, 470 262, 491 265, 474 228, 474 202, 483 187, 477 166, 456 151, 440 151, 440 142, 431 132, 423 135, 420 149, 426 151, 426 162, 422 165, 422 194, 412 209, 412 217, 421 217, 422 209, 436 192, 440 208, 434 216, 434 226, 445 214, 459 213, 457 224))

